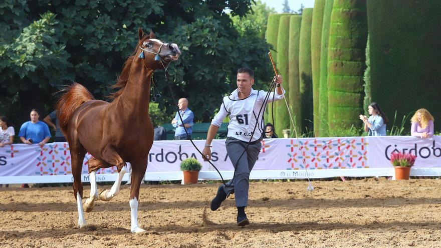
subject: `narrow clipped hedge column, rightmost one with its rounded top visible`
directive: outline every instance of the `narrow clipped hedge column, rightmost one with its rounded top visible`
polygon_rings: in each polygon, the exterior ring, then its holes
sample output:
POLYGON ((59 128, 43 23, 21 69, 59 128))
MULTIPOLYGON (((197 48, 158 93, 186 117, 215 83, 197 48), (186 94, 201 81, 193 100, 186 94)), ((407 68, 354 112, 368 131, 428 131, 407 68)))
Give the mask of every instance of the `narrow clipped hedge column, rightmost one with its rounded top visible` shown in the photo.
POLYGON ((302 130, 309 132, 313 129, 313 101, 312 101, 312 68, 311 68, 311 25, 312 9, 303 9, 302 27, 300 29, 300 99, 302 130))

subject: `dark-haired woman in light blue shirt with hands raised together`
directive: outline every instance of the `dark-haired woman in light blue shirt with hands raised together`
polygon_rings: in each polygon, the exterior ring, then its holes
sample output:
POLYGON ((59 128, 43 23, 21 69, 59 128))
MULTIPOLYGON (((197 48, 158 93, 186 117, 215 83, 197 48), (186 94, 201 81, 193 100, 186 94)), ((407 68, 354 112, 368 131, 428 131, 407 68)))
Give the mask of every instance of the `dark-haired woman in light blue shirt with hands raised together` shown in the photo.
POLYGON ((367 108, 369 118, 360 115, 360 120, 364 123, 364 131, 369 136, 386 136, 386 124, 388 122, 386 115, 381 111, 377 103, 371 103, 367 108))

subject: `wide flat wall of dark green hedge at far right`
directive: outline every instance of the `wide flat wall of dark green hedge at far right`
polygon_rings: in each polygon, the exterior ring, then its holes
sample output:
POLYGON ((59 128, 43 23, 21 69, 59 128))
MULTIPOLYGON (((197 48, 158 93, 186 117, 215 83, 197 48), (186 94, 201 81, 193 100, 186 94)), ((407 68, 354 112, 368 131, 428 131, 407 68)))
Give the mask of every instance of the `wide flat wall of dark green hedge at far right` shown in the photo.
POLYGON ((389 119, 426 108, 439 130, 441 1, 369 0, 367 13, 372 101, 389 119))

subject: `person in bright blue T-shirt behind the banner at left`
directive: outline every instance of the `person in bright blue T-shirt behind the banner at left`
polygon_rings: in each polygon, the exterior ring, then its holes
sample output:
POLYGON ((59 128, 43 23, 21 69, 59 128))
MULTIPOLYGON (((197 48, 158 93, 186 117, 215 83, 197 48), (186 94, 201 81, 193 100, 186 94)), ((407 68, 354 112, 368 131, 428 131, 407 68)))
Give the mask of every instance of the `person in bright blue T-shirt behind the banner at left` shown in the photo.
POLYGON ((31 110, 31 120, 23 123, 20 128, 19 137, 25 144, 39 144, 43 146, 51 138, 51 132, 46 123, 39 121, 40 114, 36 109, 31 110))

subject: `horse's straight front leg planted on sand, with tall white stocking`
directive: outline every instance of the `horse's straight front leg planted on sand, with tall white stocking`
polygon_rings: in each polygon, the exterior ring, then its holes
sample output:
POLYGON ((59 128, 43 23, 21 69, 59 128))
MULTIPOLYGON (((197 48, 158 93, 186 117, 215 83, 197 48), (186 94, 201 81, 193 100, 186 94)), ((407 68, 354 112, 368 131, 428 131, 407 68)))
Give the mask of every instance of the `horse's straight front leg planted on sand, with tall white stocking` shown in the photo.
POLYGON ((144 178, 145 170, 147 168, 147 161, 141 163, 132 163, 132 185, 130 187, 130 217, 131 217, 131 232, 144 232, 145 230, 138 225, 138 199, 139 188, 141 187, 141 180, 144 178))

